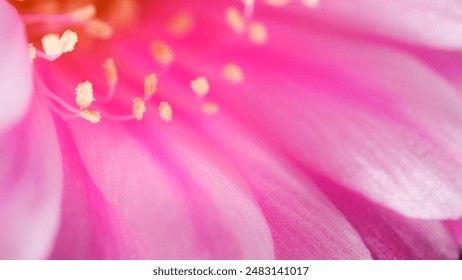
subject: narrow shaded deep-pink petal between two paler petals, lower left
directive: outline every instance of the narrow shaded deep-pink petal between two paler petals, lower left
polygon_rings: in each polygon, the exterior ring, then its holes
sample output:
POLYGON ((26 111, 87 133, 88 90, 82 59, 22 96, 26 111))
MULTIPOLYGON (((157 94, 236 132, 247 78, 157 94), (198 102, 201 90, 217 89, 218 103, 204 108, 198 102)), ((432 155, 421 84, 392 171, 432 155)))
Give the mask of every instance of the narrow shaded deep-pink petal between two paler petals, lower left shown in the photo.
POLYGON ((137 259, 142 248, 122 227, 116 211, 81 162, 72 135, 61 129, 64 193, 61 226, 52 259, 137 259))

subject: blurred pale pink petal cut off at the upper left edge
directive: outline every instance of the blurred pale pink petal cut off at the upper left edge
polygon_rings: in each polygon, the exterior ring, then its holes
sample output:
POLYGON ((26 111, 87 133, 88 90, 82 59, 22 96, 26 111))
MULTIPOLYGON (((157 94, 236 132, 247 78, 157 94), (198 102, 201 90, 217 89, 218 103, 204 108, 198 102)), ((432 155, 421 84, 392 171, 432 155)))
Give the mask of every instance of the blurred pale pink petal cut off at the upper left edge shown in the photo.
POLYGON ((32 95, 32 68, 24 26, 16 10, 0 1, 0 132, 26 112, 32 95))

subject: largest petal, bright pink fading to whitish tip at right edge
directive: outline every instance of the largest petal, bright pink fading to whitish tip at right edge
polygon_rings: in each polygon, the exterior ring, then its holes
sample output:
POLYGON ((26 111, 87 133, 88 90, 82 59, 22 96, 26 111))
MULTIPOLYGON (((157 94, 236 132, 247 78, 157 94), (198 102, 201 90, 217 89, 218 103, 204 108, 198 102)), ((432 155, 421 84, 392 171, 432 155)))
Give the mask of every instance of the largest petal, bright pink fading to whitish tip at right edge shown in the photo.
POLYGON ((184 67, 216 77, 237 61, 249 82, 214 97, 294 159, 406 216, 462 215, 462 102, 447 81, 392 49, 309 31, 300 37, 276 23, 269 32, 285 41, 201 53, 184 67), (212 59, 207 68, 199 62, 212 59))

